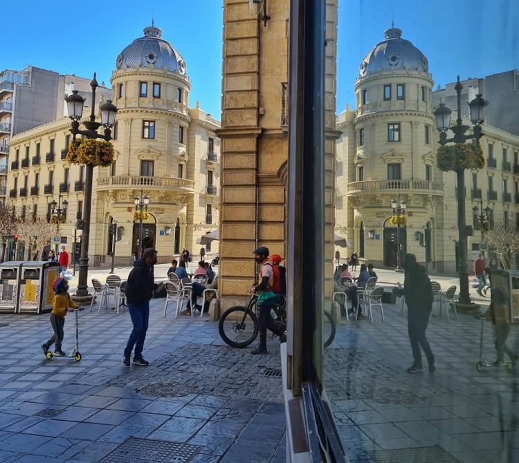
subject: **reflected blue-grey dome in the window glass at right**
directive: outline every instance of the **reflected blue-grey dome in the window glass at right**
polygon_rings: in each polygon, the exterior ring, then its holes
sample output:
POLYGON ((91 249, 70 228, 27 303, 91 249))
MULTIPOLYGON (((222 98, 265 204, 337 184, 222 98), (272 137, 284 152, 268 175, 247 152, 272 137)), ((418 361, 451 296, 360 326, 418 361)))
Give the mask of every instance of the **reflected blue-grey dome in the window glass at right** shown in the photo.
POLYGON ((429 73, 427 58, 409 40, 400 36, 402 31, 390 28, 384 32, 384 40, 374 46, 365 55, 358 69, 358 76, 363 78, 377 72, 392 71, 393 69, 411 69, 429 73))

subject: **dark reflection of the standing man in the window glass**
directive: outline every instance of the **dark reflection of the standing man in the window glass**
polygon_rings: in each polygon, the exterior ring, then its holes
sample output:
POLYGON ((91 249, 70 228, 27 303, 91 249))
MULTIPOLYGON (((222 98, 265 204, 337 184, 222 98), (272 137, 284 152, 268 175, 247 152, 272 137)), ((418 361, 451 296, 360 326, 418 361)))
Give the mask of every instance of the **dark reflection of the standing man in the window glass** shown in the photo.
POLYGON ((408 368, 408 373, 424 371, 421 363, 420 347, 426 355, 429 372, 433 373, 436 371, 435 356, 432 354, 426 337, 427 325, 432 311, 430 280, 424 265, 417 263, 415 254, 406 254, 403 268, 406 271, 403 280, 403 290, 397 291, 400 291, 400 295, 403 293, 408 306, 408 333, 413 358, 413 363, 408 368))

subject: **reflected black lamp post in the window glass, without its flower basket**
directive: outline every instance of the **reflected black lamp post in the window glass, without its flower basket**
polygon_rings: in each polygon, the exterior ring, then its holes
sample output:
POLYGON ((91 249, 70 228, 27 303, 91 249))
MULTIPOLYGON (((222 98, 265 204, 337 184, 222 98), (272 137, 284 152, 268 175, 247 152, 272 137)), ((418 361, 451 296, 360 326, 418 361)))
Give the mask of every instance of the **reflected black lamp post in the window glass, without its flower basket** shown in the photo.
MULTIPOLYGON (((439 131, 439 144, 444 146, 446 143, 464 143, 467 140, 474 139, 477 146, 482 136, 481 124, 484 122, 486 114, 486 106, 489 104, 485 101, 481 94, 468 103, 471 113, 471 121, 473 123, 473 134, 465 134, 469 129, 468 125, 462 124, 462 89, 463 85, 457 82, 454 87, 457 94, 457 119, 456 125, 450 126, 450 115, 452 110, 446 107, 445 103, 440 103, 435 110, 436 127, 439 131), (454 136, 447 138, 447 131, 453 132, 454 136)), ((467 242, 466 242, 466 216, 465 216, 465 169, 456 168, 457 177, 457 227, 458 227, 458 241, 459 241, 459 302, 460 309, 467 311, 479 311, 477 306, 471 302, 471 297, 468 293, 468 270, 467 270, 467 242)))

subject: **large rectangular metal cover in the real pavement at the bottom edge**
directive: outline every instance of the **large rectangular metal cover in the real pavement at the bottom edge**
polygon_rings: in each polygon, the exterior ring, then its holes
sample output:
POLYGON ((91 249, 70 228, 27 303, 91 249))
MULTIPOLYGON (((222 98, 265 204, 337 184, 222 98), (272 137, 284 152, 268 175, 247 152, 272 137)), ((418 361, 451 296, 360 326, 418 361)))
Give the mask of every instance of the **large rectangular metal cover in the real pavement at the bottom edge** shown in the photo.
POLYGON ((129 437, 99 463, 187 463, 201 451, 201 446, 182 442, 156 441, 129 437))

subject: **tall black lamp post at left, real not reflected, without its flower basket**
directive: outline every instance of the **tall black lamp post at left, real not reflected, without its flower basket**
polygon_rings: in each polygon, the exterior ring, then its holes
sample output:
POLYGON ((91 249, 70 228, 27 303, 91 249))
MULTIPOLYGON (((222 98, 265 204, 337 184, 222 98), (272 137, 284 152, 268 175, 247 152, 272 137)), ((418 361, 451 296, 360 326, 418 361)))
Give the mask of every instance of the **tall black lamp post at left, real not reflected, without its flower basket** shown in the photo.
MULTIPOLYGON (((71 133, 73 140, 78 134, 84 135, 87 139, 103 139, 111 140, 111 128, 116 120, 117 108, 107 100, 106 103, 100 105, 101 122, 95 121, 95 89, 99 87, 98 81, 95 80, 95 73, 90 82, 92 88, 92 103, 89 121, 83 121, 86 130, 80 130, 80 119, 83 115, 84 98, 78 95, 78 90, 73 90, 72 94, 65 97, 66 107, 69 112, 69 117, 72 120, 71 133), (104 127, 104 134, 99 134, 98 129, 104 127)), ((80 256, 80 276, 78 282, 78 290, 75 296, 78 298, 89 299, 88 290, 88 274, 89 274, 89 238, 90 238, 90 211, 92 203, 92 175, 93 165, 86 164, 84 177, 84 200, 83 200, 83 220, 82 220, 82 243, 80 256)))

